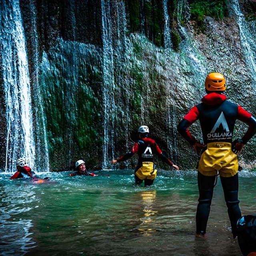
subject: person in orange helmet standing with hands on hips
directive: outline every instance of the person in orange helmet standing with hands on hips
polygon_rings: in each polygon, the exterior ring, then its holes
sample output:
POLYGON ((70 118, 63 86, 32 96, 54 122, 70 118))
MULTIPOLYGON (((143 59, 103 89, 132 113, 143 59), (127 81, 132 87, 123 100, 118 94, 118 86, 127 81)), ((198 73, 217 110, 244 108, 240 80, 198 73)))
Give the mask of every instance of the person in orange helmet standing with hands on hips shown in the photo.
POLYGON ((210 214, 214 183, 219 174, 228 208, 228 216, 235 237, 236 224, 241 217, 238 200, 238 159, 244 145, 256 132, 256 119, 241 106, 226 100, 226 80, 220 73, 206 77, 207 95, 202 103, 194 106, 178 124, 178 132, 200 155, 198 162, 199 199, 196 211, 196 234, 205 237, 210 214), (194 138, 189 127, 200 121, 203 143, 194 138), (232 143, 236 120, 248 125, 242 138, 232 143))

